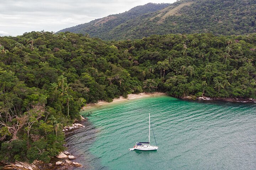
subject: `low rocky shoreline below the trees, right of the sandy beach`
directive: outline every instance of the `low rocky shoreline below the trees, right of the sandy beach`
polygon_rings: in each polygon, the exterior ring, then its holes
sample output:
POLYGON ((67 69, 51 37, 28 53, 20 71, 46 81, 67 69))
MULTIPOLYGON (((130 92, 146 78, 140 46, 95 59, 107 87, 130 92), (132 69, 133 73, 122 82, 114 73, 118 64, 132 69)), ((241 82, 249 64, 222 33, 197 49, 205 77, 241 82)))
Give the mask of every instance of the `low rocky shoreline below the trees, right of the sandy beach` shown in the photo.
POLYGON ((188 100, 218 100, 218 101, 227 101, 227 102, 242 102, 242 103, 256 103, 256 99, 253 98, 226 98, 226 97, 196 97, 196 96, 186 96, 181 97, 182 99, 188 100))

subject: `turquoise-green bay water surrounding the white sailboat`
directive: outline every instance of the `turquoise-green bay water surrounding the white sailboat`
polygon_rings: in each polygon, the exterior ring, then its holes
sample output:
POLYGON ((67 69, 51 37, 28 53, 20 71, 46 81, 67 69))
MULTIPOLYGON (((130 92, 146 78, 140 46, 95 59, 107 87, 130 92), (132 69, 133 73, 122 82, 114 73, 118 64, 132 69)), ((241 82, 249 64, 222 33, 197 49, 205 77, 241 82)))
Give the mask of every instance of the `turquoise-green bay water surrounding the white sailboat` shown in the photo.
POLYGON ((256 169, 256 104, 159 96, 88 113, 86 129, 67 142, 88 169, 256 169), (128 151, 148 140, 149 112, 159 149, 128 151))

